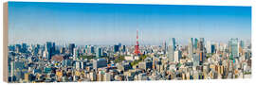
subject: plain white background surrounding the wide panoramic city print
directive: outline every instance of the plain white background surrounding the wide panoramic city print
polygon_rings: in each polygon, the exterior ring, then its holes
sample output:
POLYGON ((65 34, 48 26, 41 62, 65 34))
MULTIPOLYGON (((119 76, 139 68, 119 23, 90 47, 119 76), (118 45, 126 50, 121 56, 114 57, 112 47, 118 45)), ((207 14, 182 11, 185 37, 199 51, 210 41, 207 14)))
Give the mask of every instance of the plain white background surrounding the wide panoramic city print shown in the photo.
POLYGON ((3 3, 8 1, 32 1, 32 2, 75 2, 75 3, 119 3, 119 4, 167 4, 167 5, 207 5, 207 6, 251 6, 252 7, 252 26, 251 26, 251 40, 252 40, 252 77, 250 79, 210 79, 210 80, 158 80, 158 81, 107 81, 107 82, 62 82, 62 83, 37 83, 37 85, 244 85, 244 84, 256 84, 255 77, 255 0, 3 0, 1 4, 1 32, 0 32, 0 82, 1 85, 7 84, 22 84, 22 85, 32 85, 32 83, 6 83, 3 81, 3 3), (254 10, 254 11, 253 11, 254 10))

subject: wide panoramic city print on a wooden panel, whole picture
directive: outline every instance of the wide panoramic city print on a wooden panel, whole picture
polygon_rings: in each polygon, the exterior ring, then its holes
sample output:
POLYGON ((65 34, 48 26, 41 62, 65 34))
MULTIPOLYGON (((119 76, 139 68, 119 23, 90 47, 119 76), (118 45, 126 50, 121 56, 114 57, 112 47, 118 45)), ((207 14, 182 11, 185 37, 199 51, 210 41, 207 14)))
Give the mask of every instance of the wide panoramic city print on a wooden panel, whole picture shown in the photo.
POLYGON ((251 7, 9 2, 9 83, 246 79, 251 7))

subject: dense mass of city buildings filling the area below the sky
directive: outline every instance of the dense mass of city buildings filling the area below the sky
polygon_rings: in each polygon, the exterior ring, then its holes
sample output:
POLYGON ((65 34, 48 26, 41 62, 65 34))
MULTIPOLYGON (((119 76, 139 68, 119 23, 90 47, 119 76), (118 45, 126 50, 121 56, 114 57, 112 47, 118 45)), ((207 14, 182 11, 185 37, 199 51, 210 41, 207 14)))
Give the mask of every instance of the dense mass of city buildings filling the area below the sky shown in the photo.
POLYGON ((249 78, 251 43, 191 38, 161 45, 10 44, 9 82, 249 78), (139 48, 139 49, 138 49, 139 48))

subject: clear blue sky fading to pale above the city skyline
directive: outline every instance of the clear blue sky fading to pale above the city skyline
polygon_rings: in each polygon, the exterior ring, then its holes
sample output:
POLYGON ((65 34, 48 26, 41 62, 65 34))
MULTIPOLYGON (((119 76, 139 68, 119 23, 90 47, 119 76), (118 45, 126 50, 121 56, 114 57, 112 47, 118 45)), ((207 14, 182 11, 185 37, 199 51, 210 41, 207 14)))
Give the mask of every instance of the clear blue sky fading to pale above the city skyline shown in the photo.
POLYGON ((191 37, 250 40, 251 8, 9 2, 10 44, 135 44, 137 29, 142 44, 191 37))

